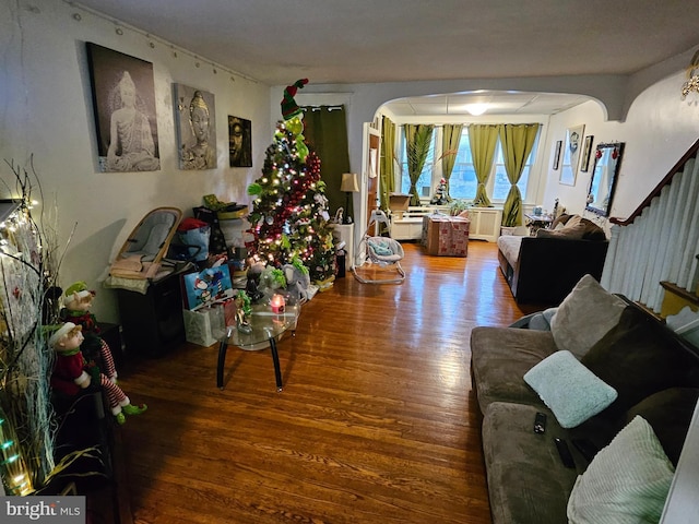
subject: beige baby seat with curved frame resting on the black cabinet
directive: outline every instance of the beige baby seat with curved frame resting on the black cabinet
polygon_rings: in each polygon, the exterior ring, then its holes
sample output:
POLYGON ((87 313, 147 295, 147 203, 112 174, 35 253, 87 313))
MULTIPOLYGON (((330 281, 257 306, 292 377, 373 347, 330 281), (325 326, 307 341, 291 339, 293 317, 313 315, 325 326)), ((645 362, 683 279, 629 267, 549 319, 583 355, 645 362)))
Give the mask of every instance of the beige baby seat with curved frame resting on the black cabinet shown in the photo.
POLYGON ((123 242, 109 274, 123 278, 153 278, 181 217, 182 212, 177 207, 157 207, 147 213, 123 242))

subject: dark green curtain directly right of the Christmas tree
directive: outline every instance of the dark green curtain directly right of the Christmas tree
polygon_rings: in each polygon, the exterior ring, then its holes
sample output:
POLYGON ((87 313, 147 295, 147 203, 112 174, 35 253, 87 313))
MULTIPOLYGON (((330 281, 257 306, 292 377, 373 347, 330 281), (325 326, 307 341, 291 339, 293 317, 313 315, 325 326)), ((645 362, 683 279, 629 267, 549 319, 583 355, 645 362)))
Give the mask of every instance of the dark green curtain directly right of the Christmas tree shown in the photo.
MULTIPOLYGON (((344 106, 304 107, 304 136, 309 150, 320 158, 320 179, 327 184, 325 196, 330 214, 345 206, 346 195, 340 191, 342 174, 350 172, 350 150, 347 145, 347 123, 344 106)), ((354 216, 352 210, 345 215, 354 216)))

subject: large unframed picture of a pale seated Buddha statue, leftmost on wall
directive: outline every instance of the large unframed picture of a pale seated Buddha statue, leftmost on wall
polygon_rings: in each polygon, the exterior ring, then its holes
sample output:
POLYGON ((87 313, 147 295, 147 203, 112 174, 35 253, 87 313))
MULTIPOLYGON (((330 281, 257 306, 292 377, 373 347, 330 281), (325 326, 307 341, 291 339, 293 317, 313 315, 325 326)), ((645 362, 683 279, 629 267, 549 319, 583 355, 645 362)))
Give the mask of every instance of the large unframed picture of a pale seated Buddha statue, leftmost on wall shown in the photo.
POLYGON ((87 43, 102 171, 161 168, 153 64, 87 43))

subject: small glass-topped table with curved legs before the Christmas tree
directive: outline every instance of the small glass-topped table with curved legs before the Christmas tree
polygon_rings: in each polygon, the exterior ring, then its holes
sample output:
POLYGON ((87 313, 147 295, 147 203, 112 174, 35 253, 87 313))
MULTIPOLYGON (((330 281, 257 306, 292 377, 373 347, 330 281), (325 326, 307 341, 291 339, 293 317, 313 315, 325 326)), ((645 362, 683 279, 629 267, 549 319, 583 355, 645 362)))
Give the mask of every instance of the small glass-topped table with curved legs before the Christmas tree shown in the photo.
POLYGON ((280 356, 276 350, 276 343, 282 334, 292 331, 296 335, 296 323, 301 312, 300 305, 286 306, 281 313, 271 311, 270 306, 264 303, 252 306, 250 314, 250 333, 244 333, 235 325, 226 327, 226 334, 218 346, 218 365, 216 368, 216 385, 223 390, 223 370, 226 365, 226 353, 228 345, 233 344, 247 352, 258 352, 270 347, 272 362, 274 364, 274 378, 276 379, 276 391, 281 392, 282 369, 280 367, 280 356))

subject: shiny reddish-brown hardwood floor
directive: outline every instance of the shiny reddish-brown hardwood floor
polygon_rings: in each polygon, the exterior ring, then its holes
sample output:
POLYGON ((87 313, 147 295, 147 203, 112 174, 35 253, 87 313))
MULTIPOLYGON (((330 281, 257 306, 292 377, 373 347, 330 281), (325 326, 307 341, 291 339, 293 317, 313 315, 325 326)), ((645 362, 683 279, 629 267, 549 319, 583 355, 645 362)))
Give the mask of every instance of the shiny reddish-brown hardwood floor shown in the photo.
POLYGON ((135 523, 489 523, 469 336, 523 311, 495 243, 469 258, 405 243, 402 285, 347 273, 279 345, 131 360, 120 384, 149 410, 119 428, 135 523))

